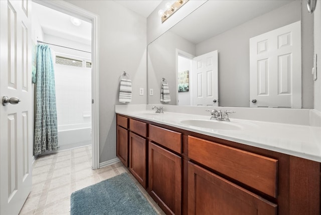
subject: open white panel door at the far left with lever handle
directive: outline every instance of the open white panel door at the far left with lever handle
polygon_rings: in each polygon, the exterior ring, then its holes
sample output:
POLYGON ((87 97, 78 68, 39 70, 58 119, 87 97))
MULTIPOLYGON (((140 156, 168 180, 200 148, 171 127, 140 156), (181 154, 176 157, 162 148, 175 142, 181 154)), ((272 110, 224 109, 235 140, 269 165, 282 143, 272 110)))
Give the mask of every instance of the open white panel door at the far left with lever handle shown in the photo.
POLYGON ((18 214, 32 186, 31 1, 0 1, 1 214, 18 214))

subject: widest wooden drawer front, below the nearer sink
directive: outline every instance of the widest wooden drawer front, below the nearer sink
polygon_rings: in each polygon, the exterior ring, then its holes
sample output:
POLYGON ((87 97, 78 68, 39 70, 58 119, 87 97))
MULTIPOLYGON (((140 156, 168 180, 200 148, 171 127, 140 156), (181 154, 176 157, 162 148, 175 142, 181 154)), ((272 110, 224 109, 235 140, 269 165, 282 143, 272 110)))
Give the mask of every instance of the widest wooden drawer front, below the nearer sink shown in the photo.
POLYGON ((277 160, 189 136, 189 158, 270 196, 277 196, 277 160))

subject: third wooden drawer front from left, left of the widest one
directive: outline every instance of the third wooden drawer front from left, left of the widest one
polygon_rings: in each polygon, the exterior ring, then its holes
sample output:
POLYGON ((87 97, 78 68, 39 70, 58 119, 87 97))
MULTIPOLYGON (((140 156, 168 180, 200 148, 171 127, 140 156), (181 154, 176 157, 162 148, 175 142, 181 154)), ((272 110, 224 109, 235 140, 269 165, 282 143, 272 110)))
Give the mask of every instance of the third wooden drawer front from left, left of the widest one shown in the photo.
POLYGON ((182 153, 182 134, 149 125, 149 139, 175 152, 182 153))

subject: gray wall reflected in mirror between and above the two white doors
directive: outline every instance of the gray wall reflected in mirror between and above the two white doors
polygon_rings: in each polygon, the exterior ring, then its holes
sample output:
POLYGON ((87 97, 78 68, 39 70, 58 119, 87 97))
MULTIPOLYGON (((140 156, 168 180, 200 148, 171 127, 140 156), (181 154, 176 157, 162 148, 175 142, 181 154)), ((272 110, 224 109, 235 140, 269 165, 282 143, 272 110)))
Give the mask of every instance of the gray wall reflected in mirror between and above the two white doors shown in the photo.
MULTIPOLYGON (((299 21, 301 19, 300 7, 301 2, 294 1, 196 45, 197 55, 213 50, 219 51, 219 102, 221 106, 249 106, 249 38, 299 21)), ((312 40, 311 26, 313 23, 309 17, 306 17, 306 14, 303 15, 302 22, 302 30, 305 31, 302 34, 302 101, 304 108, 312 108, 313 87, 311 86, 313 83, 311 78, 306 76, 310 74, 312 68, 310 41, 312 40)))

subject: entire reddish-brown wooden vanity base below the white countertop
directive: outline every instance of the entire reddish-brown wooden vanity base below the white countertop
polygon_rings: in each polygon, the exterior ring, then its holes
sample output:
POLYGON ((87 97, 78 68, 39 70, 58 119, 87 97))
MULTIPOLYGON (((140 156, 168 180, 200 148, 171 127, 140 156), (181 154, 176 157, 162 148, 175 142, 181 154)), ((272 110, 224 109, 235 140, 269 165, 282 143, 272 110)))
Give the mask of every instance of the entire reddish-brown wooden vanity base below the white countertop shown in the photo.
POLYGON ((320 214, 316 161, 120 115, 117 156, 167 214, 320 214))

